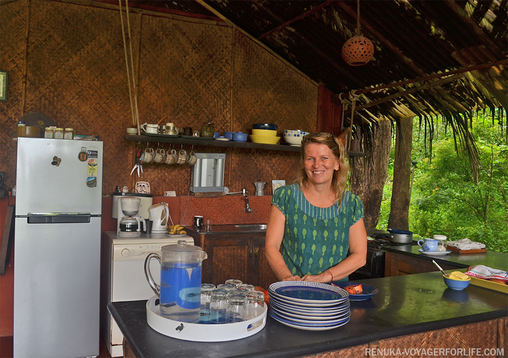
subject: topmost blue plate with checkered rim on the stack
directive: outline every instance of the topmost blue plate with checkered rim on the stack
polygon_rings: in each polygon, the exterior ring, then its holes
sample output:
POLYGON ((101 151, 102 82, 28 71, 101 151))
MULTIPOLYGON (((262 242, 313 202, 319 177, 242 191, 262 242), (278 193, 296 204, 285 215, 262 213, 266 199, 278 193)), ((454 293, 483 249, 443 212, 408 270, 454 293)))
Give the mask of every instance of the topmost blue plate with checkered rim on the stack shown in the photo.
POLYGON ((332 306, 348 299, 347 291, 320 282, 280 281, 268 287, 270 297, 300 304, 332 306))

